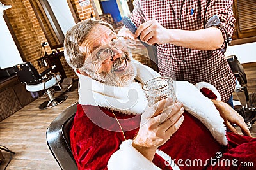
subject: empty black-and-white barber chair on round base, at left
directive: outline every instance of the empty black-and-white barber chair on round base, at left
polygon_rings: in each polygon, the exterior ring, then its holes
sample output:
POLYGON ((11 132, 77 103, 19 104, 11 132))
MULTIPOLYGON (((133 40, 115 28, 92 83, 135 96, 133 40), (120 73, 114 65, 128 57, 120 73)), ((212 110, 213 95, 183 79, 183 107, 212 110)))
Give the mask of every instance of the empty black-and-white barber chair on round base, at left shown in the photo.
POLYGON ((51 108, 57 106, 67 99, 67 96, 54 97, 52 88, 54 86, 61 87, 60 74, 51 73, 54 66, 49 67, 42 73, 38 73, 35 67, 30 62, 24 62, 13 66, 13 69, 17 73, 21 83, 26 85, 26 90, 29 92, 39 92, 45 90, 45 93, 49 97, 49 101, 45 101, 40 104, 40 109, 51 108))

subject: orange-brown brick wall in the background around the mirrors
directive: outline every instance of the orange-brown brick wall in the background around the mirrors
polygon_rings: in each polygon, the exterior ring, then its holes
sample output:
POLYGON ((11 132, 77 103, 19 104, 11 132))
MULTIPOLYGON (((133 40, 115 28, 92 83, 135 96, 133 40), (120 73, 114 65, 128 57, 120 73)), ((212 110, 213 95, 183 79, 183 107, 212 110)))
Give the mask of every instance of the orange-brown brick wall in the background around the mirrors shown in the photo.
MULTIPOLYGON (((38 69, 38 72, 41 72, 44 71, 45 68, 38 66, 37 59, 44 56, 44 51, 52 53, 52 50, 49 46, 42 47, 42 43, 47 42, 47 39, 45 38, 44 32, 40 27, 30 2, 36 4, 36 0, 1 1, 3 4, 12 5, 12 8, 6 10, 5 13, 10 20, 10 24, 17 36, 21 50, 24 53, 24 61, 31 62, 36 69, 38 69)), ((95 17, 92 5, 81 7, 78 0, 70 0, 70 2, 72 3, 78 21, 90 18, 91 13, 95 17)), ((39 10, 38 6, 35 6, 35 8, 39 10)), ((38 15, 42 17, 42 13, 38 13, 38 15)), ((46 24, 45 20, 42 20, 42 22, 46 24)), ((63 50, 63 48, 58 50, 63 50)), ((143 54, 143 52, 140 53, 143 54)), ((147 55, 147 52, 144 52, 143 55, 147 55)), ((150 65, 147 57, 143 57, 143 55, 136 55, 135 58, 150 65)), ((60 57, 60 60, 67 77, 76 77, 72 68, 69 67, 65 61, 65 58, 60 57)))

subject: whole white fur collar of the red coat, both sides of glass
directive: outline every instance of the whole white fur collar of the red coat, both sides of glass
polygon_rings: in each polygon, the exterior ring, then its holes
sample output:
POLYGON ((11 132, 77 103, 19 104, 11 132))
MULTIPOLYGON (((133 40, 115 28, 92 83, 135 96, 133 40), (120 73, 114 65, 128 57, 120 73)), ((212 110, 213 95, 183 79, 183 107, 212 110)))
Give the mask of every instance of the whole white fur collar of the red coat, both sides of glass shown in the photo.
MULTIPOLYGON (((135 61, 137 77, 142 84, 160 76, 150 67, 135 61)), ((141 114, 148 107, 141 83, 132 82, 128 87, 113 87, 92 80, 88 76, 79 76, 79 104, 92 105, 120 111, 125 114, 141 114)), ((212 136, 222 145, 227 145, 226 128, 223 118, 210 99, 191 83, 173 81, 177 100, 181 101, 186 111, 198 118, 211 132, 212 136)), ((207 83, 204 83, 204 85, 207 83)), ((218 91, 209 85, 213 91, 218 91)))

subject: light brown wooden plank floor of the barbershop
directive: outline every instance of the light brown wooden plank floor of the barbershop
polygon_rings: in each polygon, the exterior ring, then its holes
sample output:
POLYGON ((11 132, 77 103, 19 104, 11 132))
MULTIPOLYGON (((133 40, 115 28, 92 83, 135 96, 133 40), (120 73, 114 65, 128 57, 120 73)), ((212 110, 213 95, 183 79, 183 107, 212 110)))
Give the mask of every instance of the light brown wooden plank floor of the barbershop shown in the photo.
MULTIPOLYGON (((255 65, 244 69, 248 76, 248 90, 256 92, 255 65)), ((54 118, 77 101, 77 85, 74 85, 72 91, 67 92, 66 95, 68 99, 65 102, 47 110, 38 109, 45 99, 36 99, 0 122, 0 145, 16 152, 7 169, 60 169, 47 147, 45 132, 54 118)), ((250 131, 256 137, 256 124, 253 124, 250 131)), ((4 169, 10 157, 7 152, 3 151, 3 153, 6 160, 0 165, 0 169, 4 169)))

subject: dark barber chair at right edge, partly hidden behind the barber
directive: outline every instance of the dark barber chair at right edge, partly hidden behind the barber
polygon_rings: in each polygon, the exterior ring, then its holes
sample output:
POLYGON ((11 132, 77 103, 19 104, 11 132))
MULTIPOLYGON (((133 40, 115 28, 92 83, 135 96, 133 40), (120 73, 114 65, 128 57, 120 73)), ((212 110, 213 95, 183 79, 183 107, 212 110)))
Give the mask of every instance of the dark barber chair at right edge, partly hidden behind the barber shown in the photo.
POLYGON ((251 125, 255 122, 256 115, 256 109, 253 102, 255 94, 248 93, 246 74, 236 55, 230 55, 226 57, 226 59, 237 81, 235 88, 236 93, 243 92, 245 96, 245 103, 240 102, 241 107, 236 107, 236 104, 234 104, 235 110, 243 116, 244 121, 248 124, 248 127, 251 127, 251 125))

